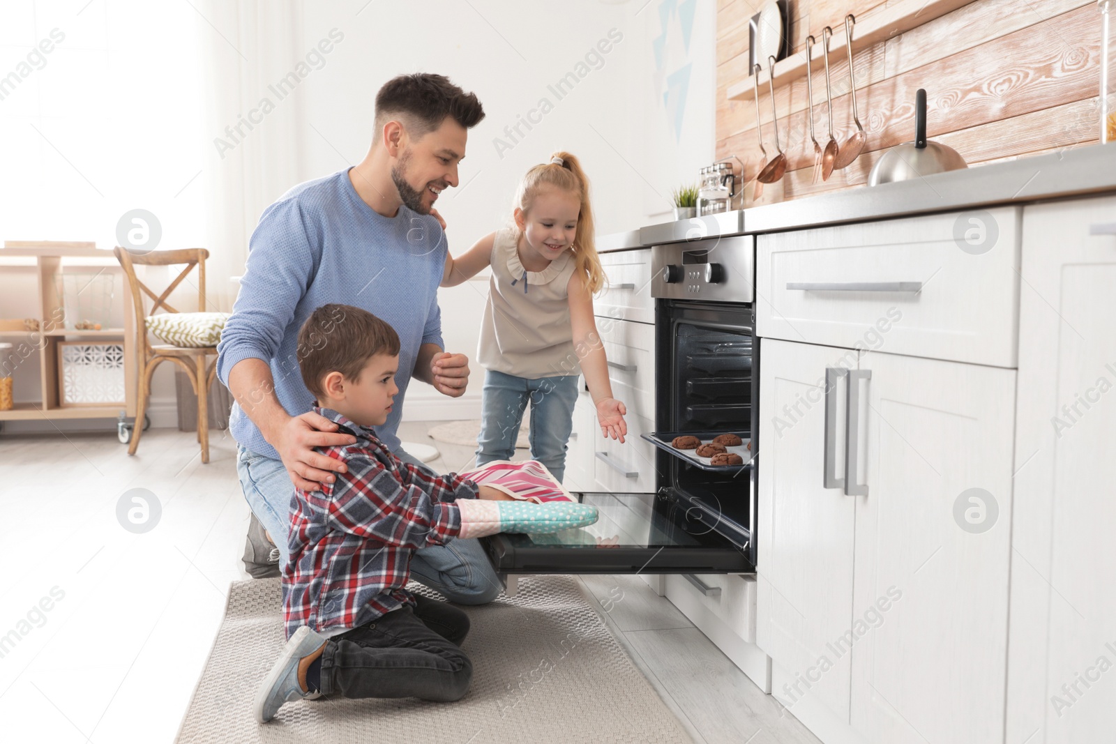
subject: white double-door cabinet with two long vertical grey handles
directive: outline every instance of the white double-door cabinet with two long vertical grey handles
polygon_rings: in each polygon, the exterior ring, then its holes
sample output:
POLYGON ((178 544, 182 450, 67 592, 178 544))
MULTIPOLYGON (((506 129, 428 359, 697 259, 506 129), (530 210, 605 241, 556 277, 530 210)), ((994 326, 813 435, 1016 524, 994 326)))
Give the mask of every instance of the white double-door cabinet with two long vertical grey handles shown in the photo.
POLYGON ((1014 370, 772 339, 761 358, 772 693, 827 742, 1001 742, 1014 370), (1002 521, 962 526, 959 497, 1002 521))

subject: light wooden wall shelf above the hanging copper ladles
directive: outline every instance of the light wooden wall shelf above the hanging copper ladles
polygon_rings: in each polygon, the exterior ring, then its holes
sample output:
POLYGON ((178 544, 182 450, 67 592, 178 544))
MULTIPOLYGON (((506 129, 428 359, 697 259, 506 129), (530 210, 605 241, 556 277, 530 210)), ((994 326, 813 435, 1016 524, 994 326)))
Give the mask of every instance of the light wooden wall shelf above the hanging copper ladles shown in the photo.
MULTIPOLYGON (((854 51, 867 49, 874 44, 886 41, 899 33, 927 23, 935 18, 941 18, 958 8, 968 6, 971 1, 930 0, 926 2, 925 0, 902 0, 886 8, 878 8, 873 12, 863 13, 856 19, 856 25, 853 27, 853 41, 856 47, 854 51)), ((821 35, 819 33, 816 38, 817 44, 814 45, 815 74, 818 73, 819 66, 822 65, 821 58, 825 56, 821 35)), ((845 26, 834 27, 834 35, 829 39, 829 59, 833 60, 838 55, 844 58, 846 54, 845 45, 847 44, 848 39, 845 37, 845 26)), ((762 64, 766 66, 766 60, 762 64)), ((769 71, 761 69, 758 76, 749 75, 747 79, 735 85, 730 85, 728 90, 729 100, 751 100, 752 96, 756 95, 756 84, 767 85, 768 77, 769 71)), ((806 77, 805 45, 798 54, 775 64, 773 81, 776 85, 785 85, 800 77, 806 77)), ((822 83, 822 85, 825 84, 822 83)))

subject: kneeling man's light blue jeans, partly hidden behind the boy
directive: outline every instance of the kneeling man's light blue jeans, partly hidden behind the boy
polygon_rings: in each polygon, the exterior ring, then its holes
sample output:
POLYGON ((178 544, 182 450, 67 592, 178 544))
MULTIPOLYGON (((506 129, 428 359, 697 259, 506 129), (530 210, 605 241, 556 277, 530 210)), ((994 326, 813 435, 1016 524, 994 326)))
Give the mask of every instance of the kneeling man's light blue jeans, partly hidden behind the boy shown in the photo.
MULTIPOLYGON (((403 462, 430 470, 403 450, 397 450, 395 455, 403 462)), ((237 473, 249 508, 279 549, 279 566, 286 566, 290 499, 295 495, 287 468, 280 460, 238 447, 237 473)), ((411 578, 459 605, 485 605, 501 590, 500 580, 477 538, 416 550, 411 559, 411 578)))

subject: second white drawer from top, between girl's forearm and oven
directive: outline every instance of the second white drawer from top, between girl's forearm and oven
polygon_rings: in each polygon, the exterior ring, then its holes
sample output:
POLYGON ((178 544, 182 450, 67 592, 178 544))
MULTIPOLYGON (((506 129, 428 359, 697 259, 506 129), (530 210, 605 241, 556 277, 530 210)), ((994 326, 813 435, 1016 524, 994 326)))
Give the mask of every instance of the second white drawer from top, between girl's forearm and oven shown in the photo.
POLYGON ((655 419, 655 327, 628 320, 597 323, 608 358, 613 396, 629 415, 655 419))

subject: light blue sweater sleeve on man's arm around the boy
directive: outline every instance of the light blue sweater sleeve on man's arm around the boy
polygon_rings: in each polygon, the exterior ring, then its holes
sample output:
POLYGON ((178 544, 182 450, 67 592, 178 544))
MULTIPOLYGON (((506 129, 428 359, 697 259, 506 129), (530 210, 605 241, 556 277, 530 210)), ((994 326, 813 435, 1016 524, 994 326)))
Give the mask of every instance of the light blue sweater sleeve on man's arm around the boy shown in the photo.
POLYGON ((249 242, 248 262, 232 316, 221 331, 217 375, 228 387, 241 359, 271 361, 306 294, 320 257, 311 247, 295 200, 272 204, 249 242))

